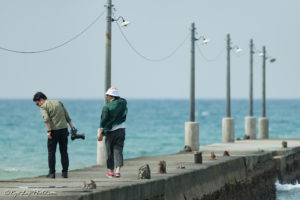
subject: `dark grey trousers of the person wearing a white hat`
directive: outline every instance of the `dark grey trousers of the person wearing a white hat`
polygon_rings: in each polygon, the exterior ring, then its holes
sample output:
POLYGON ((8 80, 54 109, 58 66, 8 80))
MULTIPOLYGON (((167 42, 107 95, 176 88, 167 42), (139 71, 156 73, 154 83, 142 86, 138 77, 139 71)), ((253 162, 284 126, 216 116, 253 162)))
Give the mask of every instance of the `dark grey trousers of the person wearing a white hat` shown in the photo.
POLYGON ((106 134, 105 146, 107 151, 107 168, 113 170, 123 166, 123 147, 125 140, 125 128, 109 131, 106 134))

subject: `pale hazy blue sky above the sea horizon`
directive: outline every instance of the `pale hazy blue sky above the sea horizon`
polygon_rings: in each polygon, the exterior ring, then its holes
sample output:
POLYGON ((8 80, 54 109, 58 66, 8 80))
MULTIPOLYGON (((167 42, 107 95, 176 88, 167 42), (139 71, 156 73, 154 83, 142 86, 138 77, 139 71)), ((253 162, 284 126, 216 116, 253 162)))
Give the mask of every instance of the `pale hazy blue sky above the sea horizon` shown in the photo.
MULTIPOLYGON (((196 98, 225 98, 226 35, 232 46, 231 97, 249 95, 249 40, 257 51, 265 45, 267 98, 300 98, 299 0, 112 0, 115 17, 131 24, 122 28, 137 55, 112 24, 112 85, 126 98, 188 99, 190 92, 190 27, 197 37, 196 98), (206 59, 214 61, 208 62, 206 59)), ((64 43, 105 10, 105 0, 0 0, 0 47, 36 51, 64 43)), ((103 98, 105 15, 72 42, 44 53, 0 50, 0 98, 103 98)), ((262 58, 254 56, 254 98, 262 93, 262 58)))

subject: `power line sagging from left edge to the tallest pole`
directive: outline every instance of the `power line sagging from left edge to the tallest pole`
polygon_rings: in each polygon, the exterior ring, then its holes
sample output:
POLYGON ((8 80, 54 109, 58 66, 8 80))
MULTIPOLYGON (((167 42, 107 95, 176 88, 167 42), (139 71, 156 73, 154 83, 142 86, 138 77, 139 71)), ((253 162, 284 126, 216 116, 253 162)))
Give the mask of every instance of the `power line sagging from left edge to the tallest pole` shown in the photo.
POLYGON ((89 30, 101 17, 102 15, 105 13, 105 10, 103 10, 100 15, 98 15, 96 17, 96 19, 90 23, 85 29, 83 29, 81 32, 79 32, 78 34, 76 34, 74 37, 72 37, 71 39, 61 43, 61 44, 58 44, 54 47, 50 47, 50 48, 47 48, 47 49, 43 49, 43 50, 37 50, 37 51, 19 51, 19 50, 14 50, 14 49, 9 49, 9 48, 5 48, 5 47, 1 47, 0 46, 0 49, 1 50, 4 50, 4 51, 9 51, 9 52, 12 52, 12 53, 23 53, 23 54, 33 54, 33 53, 43 53, 43 52, 47 52, 47 51, 52 51, 52 50, 55 50, 55 49, 58 49, 60 47, 63 47, 65 45, 67 45, 68 43, 72 42, 73 40, 77 39, 79 36, 81 36, 82 34, 84 34, 87 30, 89 30))

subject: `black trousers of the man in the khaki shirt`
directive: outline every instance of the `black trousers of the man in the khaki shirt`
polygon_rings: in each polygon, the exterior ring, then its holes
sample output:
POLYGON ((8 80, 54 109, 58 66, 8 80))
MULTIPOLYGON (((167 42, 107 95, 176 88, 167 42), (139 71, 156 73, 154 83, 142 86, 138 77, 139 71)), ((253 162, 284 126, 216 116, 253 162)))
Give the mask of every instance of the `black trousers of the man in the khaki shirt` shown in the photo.
POLYGON ((67 172, 69 168, 68 156, 68 129, 59 129, 51 131, 52 139, 48 139, 48 165, 49 173, 55 173, 55 152, 57 142, 59 144, 59 151, 61 155, 62 172, 67 172))

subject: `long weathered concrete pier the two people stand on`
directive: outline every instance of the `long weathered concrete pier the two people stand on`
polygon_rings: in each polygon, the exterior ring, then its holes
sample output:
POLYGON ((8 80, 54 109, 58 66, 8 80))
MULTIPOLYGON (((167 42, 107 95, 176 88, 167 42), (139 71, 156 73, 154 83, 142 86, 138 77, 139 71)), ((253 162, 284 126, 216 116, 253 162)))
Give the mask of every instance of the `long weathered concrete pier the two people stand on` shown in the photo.
POLYGON ((275 181, 300 181, 300 139, 241 140, 201 146, 202 164, 194 154, 178 153, 125 160, 122 177, 108 179, 105 167, 70 171, 69 178, 22 178, 0 181, 0 199, 55 200, 192 200, 276 199, 275 181), (223 156, 224 151, 227 156, 223 156), (211 159, 214 152, 216 159, 211 159), (229 155, 229 156, 228 156, 229 155), (167 173, 158 172, 166 161, 167 173), (137 179, 138 168, 149 164, 151 179, 137 179), (96 189, 83 190, 94 180, 96 189))

